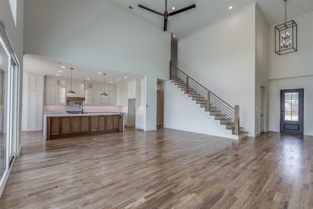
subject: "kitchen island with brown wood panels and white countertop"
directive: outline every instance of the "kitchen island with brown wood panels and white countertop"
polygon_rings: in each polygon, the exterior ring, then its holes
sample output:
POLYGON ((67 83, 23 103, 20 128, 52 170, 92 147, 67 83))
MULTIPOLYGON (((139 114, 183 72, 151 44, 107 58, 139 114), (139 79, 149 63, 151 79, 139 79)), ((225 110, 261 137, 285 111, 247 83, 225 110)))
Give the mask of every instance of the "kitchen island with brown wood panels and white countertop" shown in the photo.
POLYGON ((124 114, 121 113, 55 113, 44 114, 45 140, 124 131, 124 114))

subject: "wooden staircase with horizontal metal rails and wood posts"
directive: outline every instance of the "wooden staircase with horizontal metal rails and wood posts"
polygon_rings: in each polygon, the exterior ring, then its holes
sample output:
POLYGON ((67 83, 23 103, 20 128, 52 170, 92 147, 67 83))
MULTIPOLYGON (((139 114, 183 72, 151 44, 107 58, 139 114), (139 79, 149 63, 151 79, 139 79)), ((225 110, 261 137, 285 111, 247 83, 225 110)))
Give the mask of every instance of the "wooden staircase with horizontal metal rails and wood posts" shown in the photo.
POLYGON ((231 130, 232 136, 229 138, 243 139, 248 136, 248 132, 243 131, 243 128, 239 126, 238 105, 235 108, 231 107, 171 63, 170 79, 175 86, 196 101, 196 104, 200 105, 204 112, 208 112, 209 116, 214 116, 215 120, 224 125, 226 130, 231 130))

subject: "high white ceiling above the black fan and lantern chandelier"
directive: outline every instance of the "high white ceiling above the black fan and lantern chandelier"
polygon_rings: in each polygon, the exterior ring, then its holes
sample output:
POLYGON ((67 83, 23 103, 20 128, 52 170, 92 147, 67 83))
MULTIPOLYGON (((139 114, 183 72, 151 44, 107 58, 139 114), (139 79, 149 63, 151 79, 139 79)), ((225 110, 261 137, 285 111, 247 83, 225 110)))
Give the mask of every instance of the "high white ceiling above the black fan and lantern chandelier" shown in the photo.
MULTIPOLYGON (((140 8, 138 4, 164 13, 165 0, 117 0, 117 2, 135 14, 163 28, 164 19, 162 16, 140 8), (130 9, 129 6, 132 6, 133 9, 130 9)), ((285 21, 284 0, 167 0, 167 11, 172 12, 174 11, 172 7, 175 7, 175 10, 177 10, 193 3, 196 4, 195 8, 168 18, 167 30, 171 31, 177 39, 183 38, 195 30, 236 13, 254 3, 258 4, 268 25, 285 21), (232 9, 229 9, 229 6, 232 6, 232 9)), ((287 0, 287 20, 311 12, 313 12, 313 0, 287 0)))

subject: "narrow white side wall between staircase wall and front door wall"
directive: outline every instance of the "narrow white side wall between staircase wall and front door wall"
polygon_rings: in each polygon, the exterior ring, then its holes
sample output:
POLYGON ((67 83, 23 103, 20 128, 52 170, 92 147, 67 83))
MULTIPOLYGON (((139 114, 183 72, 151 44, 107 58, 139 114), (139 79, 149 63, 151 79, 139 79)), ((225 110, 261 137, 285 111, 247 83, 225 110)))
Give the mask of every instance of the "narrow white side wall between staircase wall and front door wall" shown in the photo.
POLYGON ((259 7, 255 10, 255 135, 260 134, 260 88, 265 88, 265 131, 268 130, 269 105, 268 93, 268 25, 265 22, 259 7))

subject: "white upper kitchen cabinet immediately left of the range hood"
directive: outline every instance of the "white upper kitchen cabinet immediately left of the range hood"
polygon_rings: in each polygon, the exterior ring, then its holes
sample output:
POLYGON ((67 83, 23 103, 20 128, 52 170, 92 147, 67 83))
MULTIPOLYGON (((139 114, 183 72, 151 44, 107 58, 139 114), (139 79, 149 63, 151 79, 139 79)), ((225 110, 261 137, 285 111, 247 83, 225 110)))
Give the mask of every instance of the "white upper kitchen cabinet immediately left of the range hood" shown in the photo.
MULTIPOLYGON (((66 80, 45 77, 45 104, 66 105, 66 80)), ((33 88, 33 87, 32 87, 33 88)))

